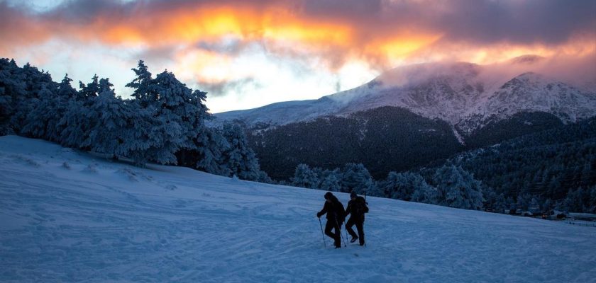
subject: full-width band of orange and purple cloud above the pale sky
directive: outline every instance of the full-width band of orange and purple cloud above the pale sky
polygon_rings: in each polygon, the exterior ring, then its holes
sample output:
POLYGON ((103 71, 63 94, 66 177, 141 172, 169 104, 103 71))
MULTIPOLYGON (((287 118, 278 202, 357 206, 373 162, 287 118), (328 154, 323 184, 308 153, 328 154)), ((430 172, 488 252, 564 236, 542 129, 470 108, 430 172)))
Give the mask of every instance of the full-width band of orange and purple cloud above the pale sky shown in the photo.
POLYGON ((433 59, 486 63, 527 53, 548 56, 553 50, 585 54, 594 52, 590 46, 596 38, 589 31, 587 39, 573 37, 595 25, 593 15, 585 12, 590 3, 578 8, 541 1, 499 6, 460 0, 448 6, 426 0, 370 0, 366 5, 352 0, 107 2, 78 0, 41 15, 0 2, 0 35, 6 39, 0 51, 55 37, 189 50, 198 42, 233 37, 260 42, 270 52, 320 57, 332 69, 355 60, 386 68, 433 59), (99 8, 85 10, 90 4, 99 8), (535 13, 524 18, 519 11, 535 13), (558 17, 549 20, 551 15, 558 17), (556 28, 542 28, 551 22, 556 28))

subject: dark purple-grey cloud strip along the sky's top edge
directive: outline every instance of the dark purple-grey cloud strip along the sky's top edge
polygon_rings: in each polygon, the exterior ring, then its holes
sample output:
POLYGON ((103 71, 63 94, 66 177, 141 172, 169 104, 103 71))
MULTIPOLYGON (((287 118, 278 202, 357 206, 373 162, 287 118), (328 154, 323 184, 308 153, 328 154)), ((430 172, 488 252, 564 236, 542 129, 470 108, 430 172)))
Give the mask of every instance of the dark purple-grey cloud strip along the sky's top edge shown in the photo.
MULTIPOLYGON (((360 29, 360 37, 367 39, 404 28, 441 33, 443 40, 481 44, 558 44, 576 33, 596 33, 594 0, 139 0, 125 3, 75 0, 66 1, 41 17, 81 24, 97 18, 134 23, 138 19, 150 18, 153 13, 202 6, 252 7, 255 11, 282 7, 311 21, 338 21, 351 25, 360 29)), ((6 11, 6 7, 2 10, 6 11)), ((109 25, 109 22, 105 24, 109 25)))

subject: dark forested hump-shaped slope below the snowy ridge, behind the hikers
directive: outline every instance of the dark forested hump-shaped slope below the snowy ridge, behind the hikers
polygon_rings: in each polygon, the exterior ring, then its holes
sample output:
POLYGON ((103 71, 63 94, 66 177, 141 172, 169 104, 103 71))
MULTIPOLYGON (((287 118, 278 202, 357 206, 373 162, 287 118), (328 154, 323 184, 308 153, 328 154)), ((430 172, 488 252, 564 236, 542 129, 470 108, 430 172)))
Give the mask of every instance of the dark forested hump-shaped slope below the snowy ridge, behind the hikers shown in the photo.
POLYGON ((326 169, 363 163, 374 178, 422 166, 462 149, 451 127, 404 108, 381 107, 248 134, 261 168, 287 180, 297 164, 326 169))

